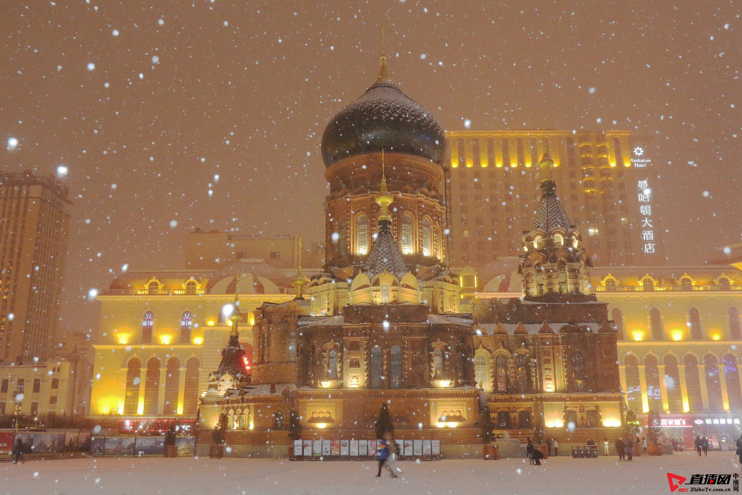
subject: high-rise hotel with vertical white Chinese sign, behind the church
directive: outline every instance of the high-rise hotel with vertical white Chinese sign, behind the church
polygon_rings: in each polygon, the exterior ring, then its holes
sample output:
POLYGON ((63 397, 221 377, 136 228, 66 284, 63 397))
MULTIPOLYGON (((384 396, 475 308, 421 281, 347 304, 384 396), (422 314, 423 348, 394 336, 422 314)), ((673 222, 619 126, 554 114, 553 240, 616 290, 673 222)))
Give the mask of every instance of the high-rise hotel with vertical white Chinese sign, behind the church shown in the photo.
POLYGON ((518 239, 538 209, 536 164, 545 151, 592 264, 664 264, 648 175, 651 142, 628 131, 450 131, 446 137, 452 267, 482 269, 519 254, 518 239))

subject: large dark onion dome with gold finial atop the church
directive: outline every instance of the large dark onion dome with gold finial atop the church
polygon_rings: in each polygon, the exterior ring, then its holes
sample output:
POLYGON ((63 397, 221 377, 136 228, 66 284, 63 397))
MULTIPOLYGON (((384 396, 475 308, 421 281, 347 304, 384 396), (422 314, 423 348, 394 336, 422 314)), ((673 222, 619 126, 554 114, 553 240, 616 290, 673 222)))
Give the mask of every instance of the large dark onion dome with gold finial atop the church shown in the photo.
POLYGON ((445 139, 433 114, 393 84, 382 54, 376 82, 325 128, 322 160, 329 167, 347 157, 387 150, 442 164, 445 139))

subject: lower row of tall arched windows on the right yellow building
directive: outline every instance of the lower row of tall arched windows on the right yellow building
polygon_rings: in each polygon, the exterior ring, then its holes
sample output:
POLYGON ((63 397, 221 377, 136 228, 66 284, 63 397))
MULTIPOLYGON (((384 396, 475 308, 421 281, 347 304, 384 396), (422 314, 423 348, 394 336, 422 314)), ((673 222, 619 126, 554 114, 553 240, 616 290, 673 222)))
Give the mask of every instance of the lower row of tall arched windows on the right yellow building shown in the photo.
MULTIPOLYGON (((738 361, 735 355, 725 354, 721 358, 720 369, 718 359, 713 354, 703 356, 703 374, 700 374, 698 358, 688 354, 683 357, 684 378, 687 390, 687 401, 690 411, 703 410, 703 396, 701 393, 701 381, 706 384, 706 399, 709 411, 722 412, 724 410, 722 400, 723 384, 720 373, 723 374, 726 384, 726 396, 729 401, 729 410, 742 408, 742 391, 740 389, 740 376, 738 361)), ((642 388, 640 380, 639 360, 637 356, 629 354, 624 358, 626 365, 626 393, 627 404, 632 410, 643 410, 642 388)), ((665 367, 664 376, 660 376, 657 356, 649 354, 643 359, 644 373, 646 375, 646 396, 649 410, 663 410, 663 390, 665 387, 666 401, 671 413, 686 412, 683 410, 683 396, 680 384, 680 367, 678 367, 675 355, 666 355, 663 359, 665 367), (660 381, 664 381, 662 384, 660 381)))

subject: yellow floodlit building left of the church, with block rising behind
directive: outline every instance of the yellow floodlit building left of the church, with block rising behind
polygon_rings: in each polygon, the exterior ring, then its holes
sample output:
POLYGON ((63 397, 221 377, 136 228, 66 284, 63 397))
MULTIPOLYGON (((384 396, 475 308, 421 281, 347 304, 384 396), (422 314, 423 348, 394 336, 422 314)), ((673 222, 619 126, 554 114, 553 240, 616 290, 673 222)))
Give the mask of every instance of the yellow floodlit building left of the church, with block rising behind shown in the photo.
POLYGON ((232 247, 234 240, 224 233, 194 232, 185 264, 211 268, 130 270, 99 292, 90 416, 117 416, 128 421, 127 428, 139 427, 137 420, 194 419, 206 378, 217 368, 229 339, 223 307, 236 294, 247 315, 240 343, 252 359, 252 311, 266 301, 292 300, 294 289, 280 269, 246 253, 266 250, 270 256, 282 252, 285 244, 289 266, 295 266, 292 246, 298 244, 293 237, 280 236, 271 248, 268 237, 255 239, 259 246, 249 242, 252 236, 244 237, 232 247), (225 251, 220 255, 224 260, 214 258, 214 243, 225 251))

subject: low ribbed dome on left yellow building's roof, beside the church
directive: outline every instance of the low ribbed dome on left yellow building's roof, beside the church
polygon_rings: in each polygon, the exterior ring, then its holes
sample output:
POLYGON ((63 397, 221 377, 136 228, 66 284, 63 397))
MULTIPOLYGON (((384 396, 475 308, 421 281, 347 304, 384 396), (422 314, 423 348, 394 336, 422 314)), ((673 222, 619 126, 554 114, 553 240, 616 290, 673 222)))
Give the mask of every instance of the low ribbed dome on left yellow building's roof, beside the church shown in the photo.
POLYGON ((206 284, 207 294, 280 294, 286 277, 265 260, 244 258, 214 273, 206 284))

